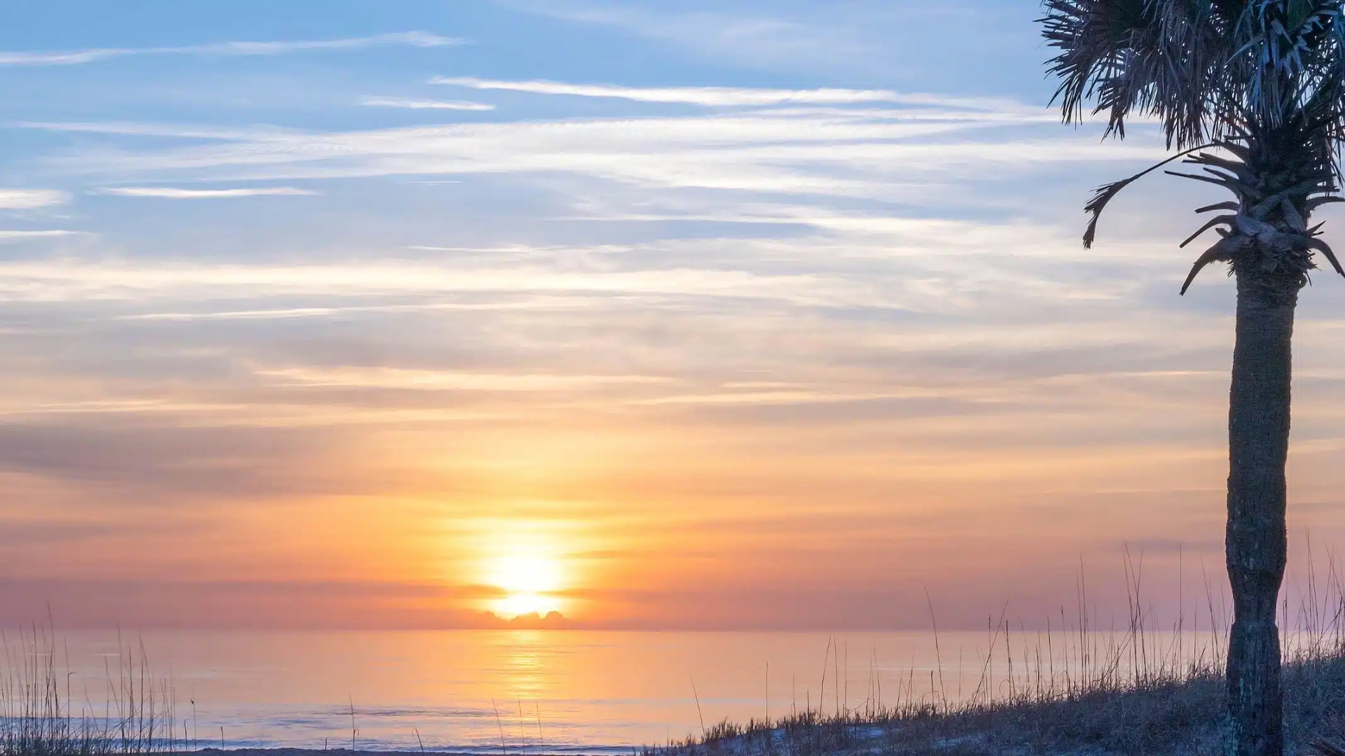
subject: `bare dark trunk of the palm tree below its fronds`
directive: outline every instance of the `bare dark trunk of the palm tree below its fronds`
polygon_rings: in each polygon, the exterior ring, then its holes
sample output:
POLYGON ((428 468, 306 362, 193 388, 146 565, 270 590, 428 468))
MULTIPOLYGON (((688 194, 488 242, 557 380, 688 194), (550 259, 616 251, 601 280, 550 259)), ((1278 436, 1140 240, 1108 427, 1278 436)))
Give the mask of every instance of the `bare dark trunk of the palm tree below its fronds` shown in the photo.
POLYGON ((1228 713, 1236 756, 1282 756, 1275 604, 1284 578, 1284 461, 1298 287, 1260 270, 1237 276, 1237 343, 1228 408, 1228 713))

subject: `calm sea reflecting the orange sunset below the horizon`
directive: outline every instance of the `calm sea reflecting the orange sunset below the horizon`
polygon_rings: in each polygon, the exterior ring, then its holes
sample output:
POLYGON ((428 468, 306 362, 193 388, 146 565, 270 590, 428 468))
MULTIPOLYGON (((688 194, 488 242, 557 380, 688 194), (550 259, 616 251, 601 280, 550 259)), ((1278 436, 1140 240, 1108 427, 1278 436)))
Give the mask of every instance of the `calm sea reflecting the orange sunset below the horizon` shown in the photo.
MULTIPOLYGON (((1171 647, 1166 640, 1150 640, 1171 647)), ((987 673, 985 632, 145 632, 155 677, 171 677, 179 737, 200 747, 425 748, 499 753, 629 752, 720 720, 791 708, 968 697, 987 673), (942 673, 942 674, 940 674, 942 673), (354 708, 354 728, 351 709, 354 708), (417 739, 418 733, 418 739, 417 739)), ((1002 643, 1002 642, 1001 642, 1002 643)), ((1194 648, 1198 638, 1182 642, 1194 648)), ((12 640, 11 640, 12 644, 12 640)), ((58 636, 77 709, 102 708, 117 635, 58 636)), ((1014 639, 1032 674, 1030 635, 1014 639)), ((1163 648, 1166 651, 1167 648, 1163 648)), ((1042 652, 1045 652, 1042 650, 1042 652)), ((1056 662, 1077 663, 1054 647, 1056 662)), ((1190 651, 1184 651, 1189 655, 1190 651)), ((1003 648, 990 679, 1007 686, 1003 648)), ((1128 656, 1127 656, 1128 658, 1128 656)), ((1049 674, 1049 673, 1048 673, 1049 674)))

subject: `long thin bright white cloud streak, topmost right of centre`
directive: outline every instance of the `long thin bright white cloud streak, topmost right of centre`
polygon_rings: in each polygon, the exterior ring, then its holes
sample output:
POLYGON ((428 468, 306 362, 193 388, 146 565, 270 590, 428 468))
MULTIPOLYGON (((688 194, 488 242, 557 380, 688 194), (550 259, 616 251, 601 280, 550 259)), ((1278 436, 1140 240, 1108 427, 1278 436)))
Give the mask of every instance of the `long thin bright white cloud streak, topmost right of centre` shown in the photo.
POLYGON ((566 83, 555 81, 500 81, 475 77, 434 77, 429 83, 468 89, 562 94, 573 97, 607 97, 639 102, 703 105, 707 108, 764 105, 855 105, 893 102, 901 105, 1003 106, 1003 98, 975 100, 933 94, 901 94, 885 89, 755 89, 734 86, 668 86, 639 87, 607 83, 566 83))

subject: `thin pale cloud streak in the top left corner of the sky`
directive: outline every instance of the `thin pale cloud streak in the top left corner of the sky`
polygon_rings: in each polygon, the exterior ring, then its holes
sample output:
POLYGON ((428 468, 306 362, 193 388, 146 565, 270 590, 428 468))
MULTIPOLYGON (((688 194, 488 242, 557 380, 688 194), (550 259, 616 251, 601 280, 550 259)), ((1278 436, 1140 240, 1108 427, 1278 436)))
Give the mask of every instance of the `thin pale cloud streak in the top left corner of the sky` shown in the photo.
POLYGON ((7 52, 0 51, 0 66, 75 66, 130 58, 134 55, 284 55, 321 50, 362 50, 367 47, 408 46, 408 47, 449 47, 464 40, 440 36, 424 31, 404 31, 374 36, 352 36, 346 39, 320 39, 299 42, 215 42, 183 47, 94 47, 59 52, 7 52))

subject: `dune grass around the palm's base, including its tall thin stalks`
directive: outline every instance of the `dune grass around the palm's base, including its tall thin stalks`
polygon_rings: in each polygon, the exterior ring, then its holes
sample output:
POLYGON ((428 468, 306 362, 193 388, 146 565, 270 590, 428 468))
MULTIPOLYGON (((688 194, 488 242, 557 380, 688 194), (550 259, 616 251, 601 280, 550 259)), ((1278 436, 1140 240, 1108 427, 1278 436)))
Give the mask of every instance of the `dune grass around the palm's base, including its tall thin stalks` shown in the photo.
MULTIPOLYGON (((1282 604, 1282 626, 1291 628, 1282 638, 1290 755, 1345 756, 1345 591, 1334 560, 1326 573, 1325 580, 1309 573, 1294 616, 1287 597, 1282 604)), ((642 756, 1223 756, 1223 601, 1206 581, 1201 624, 1216 630, 1200 647, 1182 647, 1196 617, 1153 627, 1141 569, 1128 557, 1126 574, 1130 615, 1119 632, 1089 627, 1083 600, 1073 617, 1040 632, 993 619, 970 694, 944 686, 942 662, 923 679, 912 670, 893 691, 878 689, 874 670, 866 698, 853 708, 829 710, 819 695, 816 706, 721 721, 642 756)))

